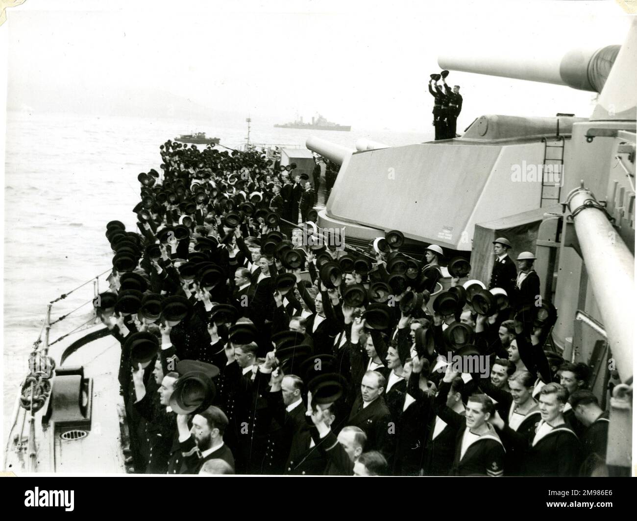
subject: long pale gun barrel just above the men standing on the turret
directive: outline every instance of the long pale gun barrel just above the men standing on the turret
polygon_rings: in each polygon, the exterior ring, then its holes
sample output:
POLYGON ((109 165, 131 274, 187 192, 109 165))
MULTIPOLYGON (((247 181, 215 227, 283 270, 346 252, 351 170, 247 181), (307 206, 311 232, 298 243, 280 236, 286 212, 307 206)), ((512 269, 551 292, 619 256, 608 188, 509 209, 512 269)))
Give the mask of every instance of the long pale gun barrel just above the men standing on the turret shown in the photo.
POLYGON ((467 54, 442 54, 443 69, 466 73, 517 78, 531 82, 568 85, 573 89, 601 92, 619 53, 620 45, 597 50, 575 48, 566 54, 536 53, 523 57, 467 54))

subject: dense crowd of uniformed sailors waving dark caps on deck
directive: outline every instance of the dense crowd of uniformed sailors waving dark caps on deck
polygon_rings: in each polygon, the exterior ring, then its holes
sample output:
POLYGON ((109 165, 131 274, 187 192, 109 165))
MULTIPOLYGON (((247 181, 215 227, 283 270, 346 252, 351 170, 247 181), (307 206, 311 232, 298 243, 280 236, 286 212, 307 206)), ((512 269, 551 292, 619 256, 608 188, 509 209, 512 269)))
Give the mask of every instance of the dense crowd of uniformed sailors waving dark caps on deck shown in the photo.
POLYGON ((589 367, 550 342, 533 252, 496 238, 480 282, 447 248, 401 252, 400 231, 337 247, 316 225, 318 162, 297 175, 257 150, 160 148, 136 229, 107 225, 96 299, 122 345, 131 471, 607 471, 608 415, 589 367))

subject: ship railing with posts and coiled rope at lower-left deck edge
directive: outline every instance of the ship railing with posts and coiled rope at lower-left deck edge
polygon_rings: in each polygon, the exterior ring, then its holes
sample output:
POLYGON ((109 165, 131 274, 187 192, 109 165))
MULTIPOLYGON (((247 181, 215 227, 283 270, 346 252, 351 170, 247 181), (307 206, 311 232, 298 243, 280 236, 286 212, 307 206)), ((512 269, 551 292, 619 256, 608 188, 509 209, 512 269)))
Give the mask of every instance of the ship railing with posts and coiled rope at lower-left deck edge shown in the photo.
POLYGON ((27 470, 29 472, 36 471, 37 445, 35 439, 35 415, 39 408, 34 408, 34 403, 36 403, 36 387, 33 382, 34 378, 31 378, 30 387, 28 389, 25 389, 27 379, 34 376, 36 378, 50 378, 52 376, 53 369, 55 368, 55 361, 52 360, 52 358, 48 355, 50 346, 55 345, 59 341, 62 341, 75 332, 81 331, 82 329, 87 329, 96 324, 97 313, 95 303, 96 298, 99 295, 99 278, 106 275, 106 273, 110 273, 111 271, 112 268, 107 269, 103 273, 100 273, 99 275, 96 275, 86 282, 80 284, 78 287, 61 294, 59 297, 47 304, 47 313, 45 314, 42 327, 38 334, 38 338, 36 339, 36 341, 34 341, 31 353, 29 355, 29 374, 20 383, 21 391, 17 394, 15 404, 13 406, 13 411, 11 412, 10 431, 8 434, 7 445, 4 452, 3 467, 5 471, 8 470, 6 467, 6 457, 11 451, 11 445, 14 445, 18 450, 26 450, 29 457, 27 470), (52 320, 52 312, 55 304, 61 302, 69 295, 75 293, 77 290, 91 283, 93 285, 93 296, 89 301, 85 301, 84 303, 77 306, 75 309, 52 320), (92 304, 92 311, 88 320, 85 320, 85 322, 82 322, 82 324, 73 327, 73 329, 71 329, 70 331, 64 332, 64 334, 51 341, 51 329, 54 325, 63 322, 67 318, 71 317, 71 315, 77 316, 78 311, 83 310, 89 304, 92 304), (28 407, 24 405, 23 397, 25 396, 27 397, 27 402, 30 402, 28 407), (30 397, 30 400, 28 399, 28 397, 30 397), (25 435, 25 427, 27 427, 27 425, 28 434, 25 435))

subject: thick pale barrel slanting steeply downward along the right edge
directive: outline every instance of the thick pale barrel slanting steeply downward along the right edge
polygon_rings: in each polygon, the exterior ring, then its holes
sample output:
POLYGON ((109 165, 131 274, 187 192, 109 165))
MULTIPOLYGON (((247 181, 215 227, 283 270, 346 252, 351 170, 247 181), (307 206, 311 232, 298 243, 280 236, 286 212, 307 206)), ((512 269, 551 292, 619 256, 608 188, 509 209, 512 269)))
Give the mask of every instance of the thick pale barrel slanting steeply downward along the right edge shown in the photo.
POLYGON ((608 342, 624 382, 633 377, 634 257, 608 220, 603 206, 583 186, 566 199, 592 284, 599 312, 608 332, 608 342), (618 293, 626 292, 626 301, 618 293))

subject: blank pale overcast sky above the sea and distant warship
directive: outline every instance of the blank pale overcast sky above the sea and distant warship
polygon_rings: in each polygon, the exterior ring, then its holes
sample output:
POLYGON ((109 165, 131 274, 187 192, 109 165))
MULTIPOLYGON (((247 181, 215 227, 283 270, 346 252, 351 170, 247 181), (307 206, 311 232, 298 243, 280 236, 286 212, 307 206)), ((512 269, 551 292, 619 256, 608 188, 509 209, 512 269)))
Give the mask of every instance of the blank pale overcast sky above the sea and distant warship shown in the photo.
MULTIPOLYGON (((443 52, 524 59, 622 43, 613 1, 45 1, 8 10, 8 99, 165 90, 211 108, 422 129, 443 52), (50 9, 54 7, 55 11, 50 9)), ((453 73, 464 110, 588 116, 592 93, 453 73)), ((139 94, 136 94, 139 96, 139 94)), ((158 113, 164 108, 158 106, 158 113)))

